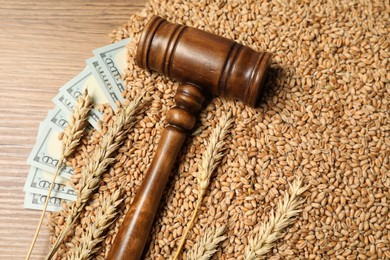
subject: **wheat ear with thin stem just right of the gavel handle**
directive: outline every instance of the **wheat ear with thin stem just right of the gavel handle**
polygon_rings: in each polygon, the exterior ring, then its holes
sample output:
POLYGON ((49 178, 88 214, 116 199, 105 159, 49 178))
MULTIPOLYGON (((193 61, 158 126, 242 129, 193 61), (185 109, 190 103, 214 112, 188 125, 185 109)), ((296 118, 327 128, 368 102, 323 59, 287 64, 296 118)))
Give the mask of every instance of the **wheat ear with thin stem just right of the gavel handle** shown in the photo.
POLYGON ((187 228, 184 231, 183 236, 181 237, 179 247, 173 258, 174 260, 178 259, 188 232, 192 228, 198 209, 202 204, 202 199, 210 184, 211 175, 222 160, 222 157, 224 155, 226 137, 229 133, 232 124, 232 113, 229 111, 225 116, 221 118, 221 121, 211 134, 209 144, 207 145, 206 152, 202 157, 202 163, 199 165, 198 174, 196 176, 198 181, 198 200, 195 205, 195 210, 192 213, 191 220, 187 224, 187 228))

